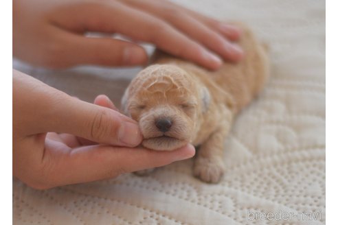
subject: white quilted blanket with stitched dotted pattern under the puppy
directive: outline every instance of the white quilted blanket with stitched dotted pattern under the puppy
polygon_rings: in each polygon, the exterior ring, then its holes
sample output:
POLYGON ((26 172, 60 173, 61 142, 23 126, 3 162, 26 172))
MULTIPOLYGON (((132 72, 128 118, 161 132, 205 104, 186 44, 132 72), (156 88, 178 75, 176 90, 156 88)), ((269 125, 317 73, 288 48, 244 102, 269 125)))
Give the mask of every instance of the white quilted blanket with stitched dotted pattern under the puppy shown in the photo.
MULTIPOLYGON (((193 178, 191 160, 48 191, 14 179, 14 224, 325 224, 325 1, 179 2, 245 21, 271 47, 271 80, 236 119, 222 182, 193 178)), ((14 67, 70 95, 114 102, 139 71, 14 67)))

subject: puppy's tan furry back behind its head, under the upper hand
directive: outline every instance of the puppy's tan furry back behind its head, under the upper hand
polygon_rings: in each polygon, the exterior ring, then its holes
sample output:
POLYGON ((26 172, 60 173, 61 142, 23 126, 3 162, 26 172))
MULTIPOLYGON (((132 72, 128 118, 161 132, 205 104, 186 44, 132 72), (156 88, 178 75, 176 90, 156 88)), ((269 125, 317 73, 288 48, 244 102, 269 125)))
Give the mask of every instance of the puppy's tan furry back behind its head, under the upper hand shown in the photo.
POLYGON ((269 58, 267 46, 257 40, 249 27, 242 23, 234 24, 243 30, 238 45, 243 48, 245 57, 238 63, 224 62, 217 71, 208 71, 161 52, 155 54, 153 63, 175 64, 196 75, 210 89, 216 103, 231 104, 234 112, 238 112, 251 102, 267 82, 269 58))

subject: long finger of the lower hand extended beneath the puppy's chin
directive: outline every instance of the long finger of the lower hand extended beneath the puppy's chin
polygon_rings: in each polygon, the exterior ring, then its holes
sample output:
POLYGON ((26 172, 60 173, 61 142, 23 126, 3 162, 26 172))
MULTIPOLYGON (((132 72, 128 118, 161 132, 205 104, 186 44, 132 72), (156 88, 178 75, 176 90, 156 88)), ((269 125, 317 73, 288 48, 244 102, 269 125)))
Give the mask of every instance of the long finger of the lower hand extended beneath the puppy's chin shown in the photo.
MULTIPOLYGON (((153 151, 144 148, 120 148, 103 145, 79 147, 48 168, 46 174, 54 178, 49 186, 69 185, 113 178, 123 173, 161 167, 174 161, 194 156, 192 145, 174 151, 153 151)), ((50 161, 53 152, 46 154, 45 162, 50 161)))

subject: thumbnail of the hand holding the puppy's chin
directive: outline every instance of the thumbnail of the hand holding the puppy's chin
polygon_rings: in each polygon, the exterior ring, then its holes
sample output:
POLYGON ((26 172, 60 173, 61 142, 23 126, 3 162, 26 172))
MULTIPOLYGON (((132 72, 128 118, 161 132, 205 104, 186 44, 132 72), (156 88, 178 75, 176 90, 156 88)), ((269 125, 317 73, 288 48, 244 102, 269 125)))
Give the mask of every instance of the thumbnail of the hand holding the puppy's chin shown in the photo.
POLYGON ((119 141, 130 147, 139 145, 142 141, 142 134, 137 123, 125 121, 118 132, 119 141))

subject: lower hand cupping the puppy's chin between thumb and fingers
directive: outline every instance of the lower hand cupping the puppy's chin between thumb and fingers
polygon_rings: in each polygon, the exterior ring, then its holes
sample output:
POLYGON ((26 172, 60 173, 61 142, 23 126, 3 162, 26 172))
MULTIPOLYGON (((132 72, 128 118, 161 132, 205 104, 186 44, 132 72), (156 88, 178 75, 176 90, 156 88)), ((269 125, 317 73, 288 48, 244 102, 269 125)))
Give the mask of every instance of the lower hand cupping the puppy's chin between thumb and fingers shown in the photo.
POLYGON ((172 152, 135 147, 142 141, 136 121, 114 110, 105 96, 95 104, 13 71, 13 175, 31 187, 48 189, 194 155, 192 145, 172 152))

